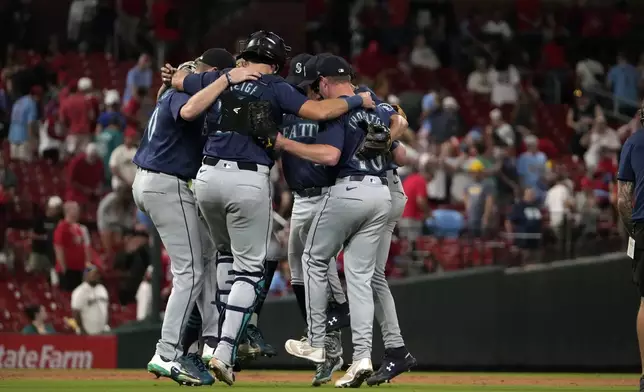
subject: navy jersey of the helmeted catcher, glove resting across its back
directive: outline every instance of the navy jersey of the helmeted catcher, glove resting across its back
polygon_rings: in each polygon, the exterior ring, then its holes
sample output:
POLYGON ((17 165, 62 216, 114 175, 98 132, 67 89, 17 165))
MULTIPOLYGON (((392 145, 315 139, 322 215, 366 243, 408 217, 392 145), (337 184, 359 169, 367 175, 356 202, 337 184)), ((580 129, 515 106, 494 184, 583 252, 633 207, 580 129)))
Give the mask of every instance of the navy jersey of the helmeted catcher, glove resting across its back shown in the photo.
MULTIPOLYGON (((215 71, 188 75, 184 79, 183 88, 187 93, 195 94, 216 81, 222 72, 215 71)), ((232 94, 235 99, 245 102, 253 100, 269 101, 277 124, 282 123, 282 117, 285 113, 298 114, 304 102, 307 101, 307 98, 302 93, 276 75, 262 75, 259 80, 247 81, 229 87, 219 97, 214 105, 215 107, 221 107, 224 94, 232 94)), ((242 130, 234 132, 232 129, 222 128, 220 121, 208 121, 208 140, 203 150, 204 155, 236 162, 256 163, 265 166, 273 165, 273 158, 252 137, 239 133, 242 130)))

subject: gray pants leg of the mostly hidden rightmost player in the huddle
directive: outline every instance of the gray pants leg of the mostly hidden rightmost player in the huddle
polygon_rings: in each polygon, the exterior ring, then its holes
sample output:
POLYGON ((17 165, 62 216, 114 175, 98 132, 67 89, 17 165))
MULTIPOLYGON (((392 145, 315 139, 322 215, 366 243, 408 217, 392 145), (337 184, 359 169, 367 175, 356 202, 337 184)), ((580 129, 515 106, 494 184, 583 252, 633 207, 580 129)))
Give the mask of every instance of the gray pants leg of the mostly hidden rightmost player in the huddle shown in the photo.
POLYGON ((385 277, 385 266, 389 258, 391 237, 396 227, 396 222, 400 220, 405 209, 407 195, 405 195, 400 178, 394 170, 387 171, 387 180, 389 182, 389 192, 391 193, 391 210, 389 210, 387 223, 378 244, 376 269, 371 279, 371 287, 373 288, 376 321, 380 324, 385 348, 397 348, 403 347, 405 342, 400 333, 396 303, 385 277))

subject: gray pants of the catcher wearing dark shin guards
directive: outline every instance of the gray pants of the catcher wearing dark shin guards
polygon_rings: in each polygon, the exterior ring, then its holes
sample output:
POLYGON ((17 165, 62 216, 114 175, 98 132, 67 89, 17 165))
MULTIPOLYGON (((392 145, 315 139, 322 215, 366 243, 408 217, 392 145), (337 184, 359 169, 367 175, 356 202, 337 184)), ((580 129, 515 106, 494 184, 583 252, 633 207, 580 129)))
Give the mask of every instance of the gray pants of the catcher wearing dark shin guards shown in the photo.
POLYGON ((215 357, 232 365, 237 346, 255 308, 264 282, 264 260, 271 235, 272 206, 269 168, 242 170, 237 162, 219 160, 203 165, 194 189, 210 237, 217 246, 218 262, 233 256, 230 289, 221 339, 215 357))

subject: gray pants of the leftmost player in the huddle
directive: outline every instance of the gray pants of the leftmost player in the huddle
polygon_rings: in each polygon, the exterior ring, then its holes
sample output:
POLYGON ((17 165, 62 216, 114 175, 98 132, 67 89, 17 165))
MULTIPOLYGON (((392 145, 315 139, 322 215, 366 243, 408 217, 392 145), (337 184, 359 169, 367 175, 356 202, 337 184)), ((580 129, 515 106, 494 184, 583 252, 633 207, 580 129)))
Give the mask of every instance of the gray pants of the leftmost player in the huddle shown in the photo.
POLYGON ((208 260, 203 254, 203 225, 186 181, 138 169, 132 194, 137 207, 154 223, 170 256, 172 292, 156 353, 175 360, 183 355, 181 334, 203 288, 204 260, 208 260))

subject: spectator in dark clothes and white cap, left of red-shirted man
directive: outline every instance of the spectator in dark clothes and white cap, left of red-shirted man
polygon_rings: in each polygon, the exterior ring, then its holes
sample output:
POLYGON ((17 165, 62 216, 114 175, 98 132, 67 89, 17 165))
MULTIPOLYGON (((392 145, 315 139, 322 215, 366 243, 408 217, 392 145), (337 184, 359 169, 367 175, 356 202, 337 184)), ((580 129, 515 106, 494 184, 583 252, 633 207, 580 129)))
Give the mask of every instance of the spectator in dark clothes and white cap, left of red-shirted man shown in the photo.
POLYGON ((54 267, 54 230, 63 218, 63 200, 52 196, 44 215, 38 216, 31 229, 31 254, 25 266, 27 272, 49 272, 54 267))

